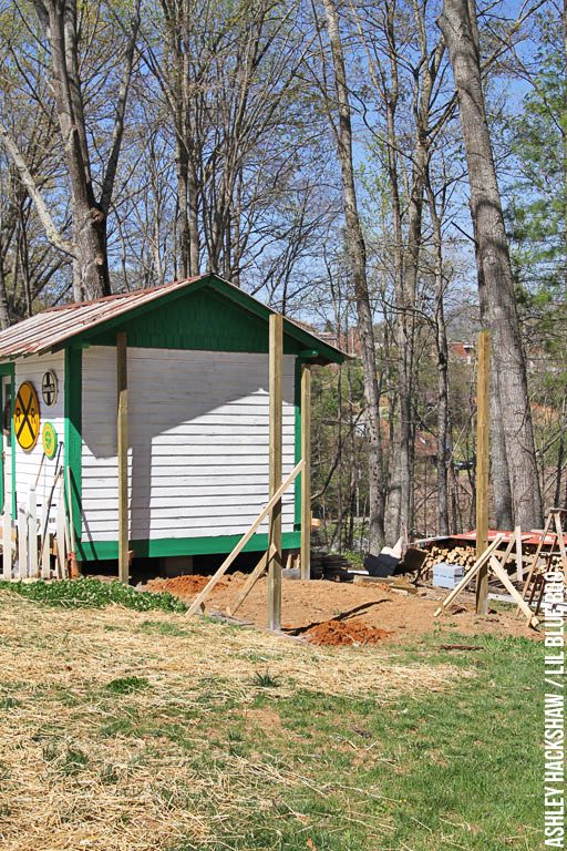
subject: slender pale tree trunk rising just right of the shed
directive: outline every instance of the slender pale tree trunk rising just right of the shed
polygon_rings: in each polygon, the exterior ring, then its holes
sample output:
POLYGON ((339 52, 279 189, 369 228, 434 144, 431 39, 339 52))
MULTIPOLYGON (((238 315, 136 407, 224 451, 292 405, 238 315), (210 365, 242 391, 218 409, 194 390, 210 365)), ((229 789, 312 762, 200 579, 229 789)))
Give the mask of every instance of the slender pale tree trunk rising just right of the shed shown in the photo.
POLYGON ((367 247, 360 222, 354 167, 352 126, 344 57, 334 0, 323 0, 334 68, 339 106, 337 147, 342 180, 342 202, 347 222, 347 249, 350 259, 364 378, 367 429, 369 438, 369 551, 378 554, 384 539, 384 499, 382 483, 382 444, 380 433, 380 388, 378 383, 374 328, 367 280, 367 247))

